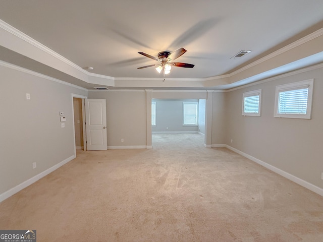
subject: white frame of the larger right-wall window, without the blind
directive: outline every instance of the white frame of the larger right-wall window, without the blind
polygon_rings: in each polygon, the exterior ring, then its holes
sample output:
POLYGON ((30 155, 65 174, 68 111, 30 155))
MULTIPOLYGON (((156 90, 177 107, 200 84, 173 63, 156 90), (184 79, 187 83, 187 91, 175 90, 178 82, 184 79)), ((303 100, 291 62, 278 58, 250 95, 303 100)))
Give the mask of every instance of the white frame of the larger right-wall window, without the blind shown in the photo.
POLYGON ((314 83, 314 79, 309 79, 305 81, 293 82, 293 83, 276 86, 274 117, 311 119, 313 83, 314 83), (308 88, 306 113, 279 113, 278 112, 279 93, 291 91, 291 90, 303 89, 306 87, 308 88))

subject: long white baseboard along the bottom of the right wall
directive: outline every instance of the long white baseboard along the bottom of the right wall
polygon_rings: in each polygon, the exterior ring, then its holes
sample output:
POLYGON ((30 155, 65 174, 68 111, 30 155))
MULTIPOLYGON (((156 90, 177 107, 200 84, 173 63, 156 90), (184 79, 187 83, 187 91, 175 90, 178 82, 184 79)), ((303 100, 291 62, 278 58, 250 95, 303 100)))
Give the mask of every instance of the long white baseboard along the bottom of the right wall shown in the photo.
MULTIPOLYGON (((213 147, 213 145, 212 145, 212 147, 213 147)), ((302 186, 304 188, 307 188, 308 190, 310 190, 310 191, 312 191, 314 193, 317 193, 318 195, 323 197, 323 189, 321 189, 319 187, 316 187, 315 185, 313 185, 311 183, 308 183, 308 181, 306 181, 306 180, 303 180, 303 179, 301 179, 301 178, 299 178, 299 177, 297 177, 295 175, 292 175, 292 174, 290 174, 290 173, 288 173, 288 172, 286 172, 284 170, 281 170, 281 169, 279 169, 279 168, 277 168, 277 167, 275 167, 273 165, 270 165, 270 164, 268 164, 266 162, 263 162, 262 160, 259 160, 259 159, 255 158, 255 157, 253 157, 251 155, 248 155, 248 154, 246 154, 246 153, 244 153, 244 152, 242 152, 242 151, 240 151, 240 150, 238 150, 236 148, 233 148, 233 147, 231 147, 229 145, 224 145, 224 146, 220 146, 220 147, 226 147, 226 148, 228 148, 228 149, 230 149, 230 150, 232 150, 232 151, 234 151, 234 152, 248 158, 249 160, 252 160, 252 161, 258 163, 259 165, 262 165, 263 167, 265 167, 267 169, 270 169, 271 171, 274 171, 275 173, 277 173, 277 174, 279 174, 281 176, 284 176, 285 178, 287 178, 287 179, 289 179, 291 181, 294 181, 294 183, 297 183, 298 185, 300 185, 300 186, 302 186)))

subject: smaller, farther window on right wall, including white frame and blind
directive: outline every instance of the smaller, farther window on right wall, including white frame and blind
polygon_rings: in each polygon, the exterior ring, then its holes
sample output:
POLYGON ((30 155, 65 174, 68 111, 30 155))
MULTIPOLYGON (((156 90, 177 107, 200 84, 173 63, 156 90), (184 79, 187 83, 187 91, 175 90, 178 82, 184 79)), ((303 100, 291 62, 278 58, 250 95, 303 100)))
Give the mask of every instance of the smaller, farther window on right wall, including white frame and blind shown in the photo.
POLYGON ((260 116, 261 89, 242 94, 242 115, 260 116))

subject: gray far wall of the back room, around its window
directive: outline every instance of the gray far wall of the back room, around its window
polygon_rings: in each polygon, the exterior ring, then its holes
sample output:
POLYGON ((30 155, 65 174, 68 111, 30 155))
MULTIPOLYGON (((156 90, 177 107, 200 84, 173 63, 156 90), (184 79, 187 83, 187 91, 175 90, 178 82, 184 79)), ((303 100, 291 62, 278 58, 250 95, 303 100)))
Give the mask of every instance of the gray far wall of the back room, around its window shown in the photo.
POLYGON ((183 126, 183 102, 197 99, 153 99, 156 103, 156 126, 152 132, 197 132, 198 126, 183 126))

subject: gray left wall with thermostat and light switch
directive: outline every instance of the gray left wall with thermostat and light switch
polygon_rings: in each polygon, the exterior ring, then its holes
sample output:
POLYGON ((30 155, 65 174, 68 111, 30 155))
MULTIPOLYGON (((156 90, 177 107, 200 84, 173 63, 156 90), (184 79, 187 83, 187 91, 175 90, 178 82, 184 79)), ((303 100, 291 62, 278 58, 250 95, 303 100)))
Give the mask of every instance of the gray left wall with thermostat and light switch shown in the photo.
POLYGON ((4 66, 0 80, 2 194, 75 154, 71 93, 87 91, 4 66), (65 128, 60 111, 67 118, 65 128))

